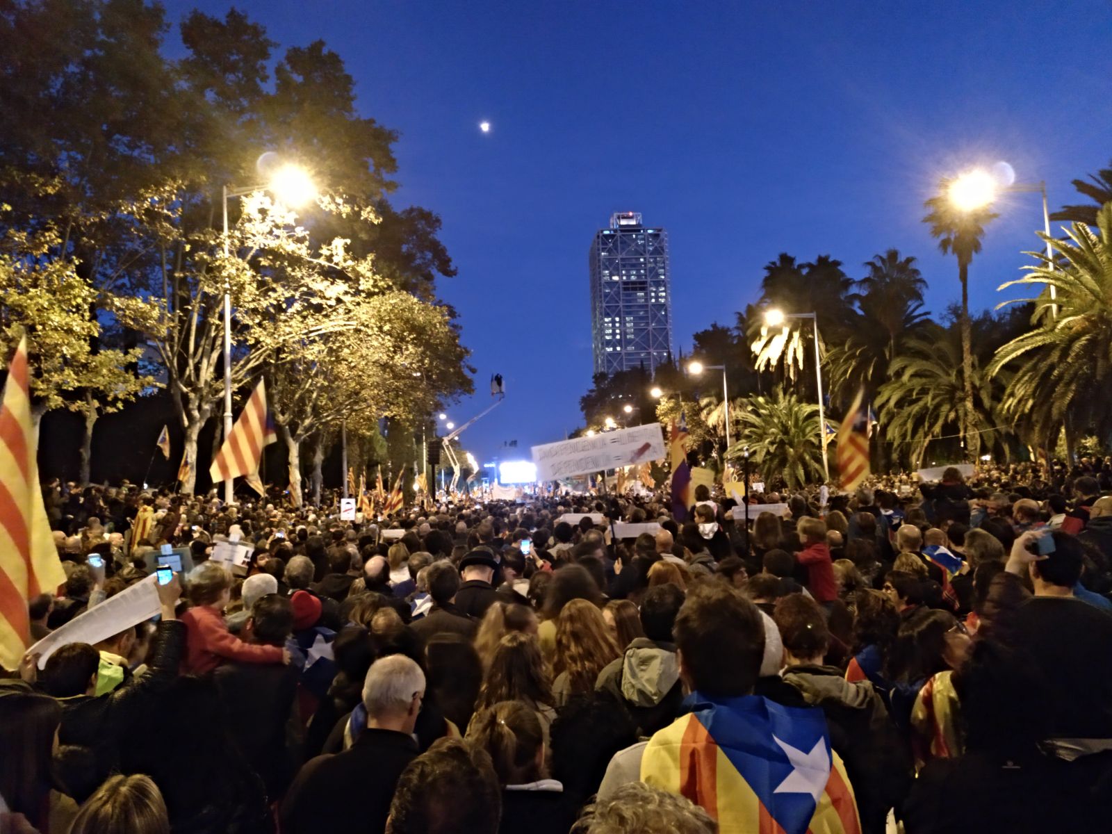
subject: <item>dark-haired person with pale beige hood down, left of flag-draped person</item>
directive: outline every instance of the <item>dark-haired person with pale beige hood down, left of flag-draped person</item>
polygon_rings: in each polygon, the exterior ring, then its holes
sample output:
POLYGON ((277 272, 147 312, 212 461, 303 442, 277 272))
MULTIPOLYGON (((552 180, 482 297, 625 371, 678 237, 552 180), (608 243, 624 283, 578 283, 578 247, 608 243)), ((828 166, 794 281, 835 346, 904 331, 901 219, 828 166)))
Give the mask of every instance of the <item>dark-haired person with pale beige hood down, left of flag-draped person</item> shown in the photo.
POLYGON ((619 703, 639 735, 652 735, 679 715, 683 686, 672 626, 684 604, 684 592, 667 583, 651 587, 641 603, 644 637, 635 637, 625 653, 598 673, 595 688, 619 703))

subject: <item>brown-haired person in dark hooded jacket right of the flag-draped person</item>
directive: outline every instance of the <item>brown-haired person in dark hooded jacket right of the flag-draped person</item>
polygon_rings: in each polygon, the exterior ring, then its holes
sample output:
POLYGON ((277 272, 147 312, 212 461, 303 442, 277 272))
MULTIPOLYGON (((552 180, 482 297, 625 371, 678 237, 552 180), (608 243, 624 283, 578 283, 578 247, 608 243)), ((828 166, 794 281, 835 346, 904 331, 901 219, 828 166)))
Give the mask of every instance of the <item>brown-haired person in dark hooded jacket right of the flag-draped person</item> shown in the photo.
POLYGON ((868 681, 851 683, 841 669, 823 665, 831 634, 813 599, 783 597, 774 618, 784 644, 784 683, 826 715, 831 745, 854 786, 861 830, 883 834, 888 808, 900 805, 912 784, 910 752, 884 701, 868 681))

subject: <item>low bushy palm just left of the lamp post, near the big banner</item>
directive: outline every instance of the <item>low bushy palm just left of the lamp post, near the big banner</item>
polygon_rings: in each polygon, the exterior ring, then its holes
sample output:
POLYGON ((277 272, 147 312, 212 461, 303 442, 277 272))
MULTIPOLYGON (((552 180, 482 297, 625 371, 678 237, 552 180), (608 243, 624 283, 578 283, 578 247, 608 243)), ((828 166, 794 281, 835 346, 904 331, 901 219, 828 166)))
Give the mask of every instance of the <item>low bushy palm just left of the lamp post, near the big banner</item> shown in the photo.
POLYGON ((774 397, 752 397, 742 415, 742 436, 729 450, 739 457, 748 447, 765 483, 783 477, 790 488, 823 476, 818 448, 818 406, 783 390, 774 397))

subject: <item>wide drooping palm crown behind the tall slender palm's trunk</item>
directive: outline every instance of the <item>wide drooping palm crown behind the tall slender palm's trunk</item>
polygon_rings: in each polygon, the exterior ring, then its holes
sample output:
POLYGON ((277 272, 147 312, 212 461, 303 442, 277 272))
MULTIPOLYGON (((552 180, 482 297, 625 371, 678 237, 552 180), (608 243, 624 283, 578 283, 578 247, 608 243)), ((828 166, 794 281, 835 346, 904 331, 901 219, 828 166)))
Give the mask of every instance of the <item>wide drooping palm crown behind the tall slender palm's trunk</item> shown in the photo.
MULTIPOLYGON (((964 374, 961 327, 933 321, 921 336, 907 339, 890 367, 890 378, 876 394, 876 407, 897 454, 906 454, 917 468, 931 440, 947 436, 974 437, 992 447, 1004 434, 996 427, 993 404, 1003 380, 982 373, 979 357, 970 357, 964 374), (973 407, 964 381, 972 383, 973 407)), ((966 440, 966 448, 969 448, 966 440)))

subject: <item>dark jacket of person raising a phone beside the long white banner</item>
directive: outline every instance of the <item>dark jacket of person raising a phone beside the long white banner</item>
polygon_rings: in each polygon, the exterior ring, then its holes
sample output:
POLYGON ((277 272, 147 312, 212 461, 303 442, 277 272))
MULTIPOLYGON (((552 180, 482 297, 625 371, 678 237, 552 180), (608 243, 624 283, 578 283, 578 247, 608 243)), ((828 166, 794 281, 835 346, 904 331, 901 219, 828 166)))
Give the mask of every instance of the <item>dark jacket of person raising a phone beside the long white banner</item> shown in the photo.
POLYGON ((158 624, 150 647, 147 673, 130 683, 96 697, 78 695, 62 698, 62 719, 58 726, 60 744, 75 744, 92 751, 100 781, 119 766, 120 745, 133 732, 132 711, 141 702, 155 703, 178 677, 186 656, 186 624, 179 619, 158 624))

